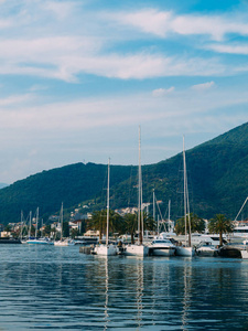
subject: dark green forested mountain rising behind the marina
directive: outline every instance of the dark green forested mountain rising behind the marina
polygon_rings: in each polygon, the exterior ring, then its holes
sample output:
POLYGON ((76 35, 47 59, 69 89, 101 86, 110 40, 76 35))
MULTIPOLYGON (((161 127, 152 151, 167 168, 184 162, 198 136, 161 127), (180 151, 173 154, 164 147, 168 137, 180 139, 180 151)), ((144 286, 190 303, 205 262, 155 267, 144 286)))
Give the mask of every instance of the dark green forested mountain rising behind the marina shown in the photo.
MULTIPOLYGON (((191 211, 202 217, 224 213, 234 218, 248 196, 248 124, 186 151, 191 211)), ((143 202, 152 202, 154 189, 164 216, 171 200, 171 216, 183 215, 182 153, 142 167, 143 202)), ((110 207, 137 205, 137 166, 111 166, 110 207)), ((31 175, 0 190, 0 223, 18 222, 40 206, 41 217, 78 204, 105 207, 107 166, 76 163, 31 175)), ((151 211, 151 210, 150 210, 151 211)))

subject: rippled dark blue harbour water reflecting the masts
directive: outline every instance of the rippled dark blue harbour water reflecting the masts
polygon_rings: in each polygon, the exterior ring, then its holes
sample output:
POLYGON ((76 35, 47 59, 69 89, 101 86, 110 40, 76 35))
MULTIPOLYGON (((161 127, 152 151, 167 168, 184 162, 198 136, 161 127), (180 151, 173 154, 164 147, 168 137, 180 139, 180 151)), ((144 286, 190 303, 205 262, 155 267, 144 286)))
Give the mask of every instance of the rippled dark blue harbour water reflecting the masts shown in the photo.
POLYGON ((248 260, 0 245, 0 330, 248 330, 248 260))

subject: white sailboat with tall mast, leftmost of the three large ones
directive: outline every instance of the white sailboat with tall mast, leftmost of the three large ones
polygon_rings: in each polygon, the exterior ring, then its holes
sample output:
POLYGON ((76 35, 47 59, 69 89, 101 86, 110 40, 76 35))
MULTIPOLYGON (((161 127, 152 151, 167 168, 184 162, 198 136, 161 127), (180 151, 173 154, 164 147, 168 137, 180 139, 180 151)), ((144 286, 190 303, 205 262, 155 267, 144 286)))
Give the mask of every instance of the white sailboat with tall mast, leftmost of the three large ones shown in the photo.
POLYGON ((106 229, 106 244, 97 245, 94 248, 94 254, 96 255, 117 255, 117 247, 112 244, 108 243, 108 235, 109 235, 109 179, 110 179, 110 159, 108 160, 108 189, 107 189, 107 229, 106 229))

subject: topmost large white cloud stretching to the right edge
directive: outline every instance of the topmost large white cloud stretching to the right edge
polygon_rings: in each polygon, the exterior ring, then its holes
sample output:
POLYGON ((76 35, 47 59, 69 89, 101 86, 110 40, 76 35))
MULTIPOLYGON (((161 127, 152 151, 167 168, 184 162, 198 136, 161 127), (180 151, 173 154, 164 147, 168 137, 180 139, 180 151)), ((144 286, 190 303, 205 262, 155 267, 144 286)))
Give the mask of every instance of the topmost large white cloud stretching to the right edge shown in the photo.
POLYGON ((147 33, 164 38, 168 33, 182 35, 206 34, 213 40, 223 40, 225 34, 237 33, 248 35, 247 22, 239 18, 219 15, 176 15, 173 12, 145 9, 136 12, 122 12, 108 15, 112 20, 132 25, 147 33))

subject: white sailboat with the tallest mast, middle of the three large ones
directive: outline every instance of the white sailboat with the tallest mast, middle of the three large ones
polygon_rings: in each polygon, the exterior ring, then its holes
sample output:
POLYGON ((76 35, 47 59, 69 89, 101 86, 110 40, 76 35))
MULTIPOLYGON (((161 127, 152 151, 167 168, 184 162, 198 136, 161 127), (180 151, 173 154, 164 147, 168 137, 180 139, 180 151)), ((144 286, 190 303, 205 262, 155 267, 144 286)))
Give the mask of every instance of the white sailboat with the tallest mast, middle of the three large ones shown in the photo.
POLYGON ((128 245, 125 255, 147 256, 149 247, 143 245, 143 213, 142 213, 142 173, 141 173, 141 139, 139 127, 139 197, 138 197, 138 244, 128 245))

